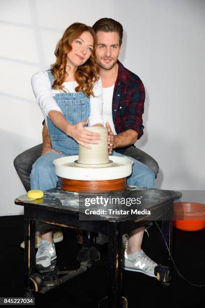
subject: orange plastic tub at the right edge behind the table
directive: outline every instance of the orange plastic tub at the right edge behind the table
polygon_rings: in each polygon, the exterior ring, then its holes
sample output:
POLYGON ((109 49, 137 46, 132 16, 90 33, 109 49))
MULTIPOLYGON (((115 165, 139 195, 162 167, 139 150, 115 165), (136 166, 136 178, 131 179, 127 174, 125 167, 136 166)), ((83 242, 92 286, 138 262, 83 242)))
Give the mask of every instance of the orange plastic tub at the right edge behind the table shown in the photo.
POLYGON ((205 227, 205 204, 193 202, 174 203, 173 226, 184 231, 197 231, 205 227))

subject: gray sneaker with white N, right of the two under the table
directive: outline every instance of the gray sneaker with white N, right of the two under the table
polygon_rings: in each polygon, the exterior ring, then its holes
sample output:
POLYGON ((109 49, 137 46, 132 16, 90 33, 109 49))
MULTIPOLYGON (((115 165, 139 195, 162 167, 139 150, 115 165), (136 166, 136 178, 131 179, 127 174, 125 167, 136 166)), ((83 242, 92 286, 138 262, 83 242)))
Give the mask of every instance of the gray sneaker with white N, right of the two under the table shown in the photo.
POLYGON ((154 268, 156 266, 157 263, 152 261, 142 249, 132 255, 128 255, 125 251, 122 268, 127 271, 140 272, 156 278, 154 274, 154 268), (132 256, 132 259, 130 256, 132 256))

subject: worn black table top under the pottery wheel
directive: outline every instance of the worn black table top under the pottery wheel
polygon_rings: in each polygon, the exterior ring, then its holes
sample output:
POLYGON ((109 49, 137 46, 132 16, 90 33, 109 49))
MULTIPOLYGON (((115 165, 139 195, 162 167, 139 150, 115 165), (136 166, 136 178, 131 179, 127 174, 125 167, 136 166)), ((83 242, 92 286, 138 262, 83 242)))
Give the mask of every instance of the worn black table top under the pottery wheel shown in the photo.
POLYGON ((20 201, 17 198, 15 199, 15 203, 27 208, 46 209, 70 215, 79 215, 80 220, 154 220, 159 218, 166 204, 172 203, 180 197, 180 192, 136 186, 128 186, 125 190, 120 192, 102 194, 78 194, 55 188, 44 191, 43 199, 20 201), (90 205, 87 204, 87 206, 85 206, 85 199, 86 201, 90 200, 90 198, 95 198, 95 200, 97 200, 97 197, 98 201, 106 199, 108 204, 91 204, 87 202, 90 205), (99 199, 100 197, 104 199, 99 199), (133 201, 136 200, 138 204, 131 204, 131 198, 133 201), (118 202, 118 200, 120 201, 118 202), (128 206, 126 203, 131 205, 128 206), (98 212, 94 212, 97 210, 98 212), (87 214, 85 214, 85 211, 87 214), (139 211, 141 211, 141 213, 139 213, 139 211), (154 213, 155 215, 153 216, 154 213))

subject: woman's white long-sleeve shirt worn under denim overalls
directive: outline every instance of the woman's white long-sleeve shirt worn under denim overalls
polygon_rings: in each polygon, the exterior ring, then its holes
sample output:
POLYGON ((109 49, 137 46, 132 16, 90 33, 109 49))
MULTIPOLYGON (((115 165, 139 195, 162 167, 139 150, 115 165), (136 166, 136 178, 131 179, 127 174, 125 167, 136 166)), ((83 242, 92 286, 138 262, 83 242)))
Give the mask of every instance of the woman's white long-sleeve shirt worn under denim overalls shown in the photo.
MULTIPOLYGON (((33 88, 33 92, 37 103, 39 104, 45 121, 47 123, 47 116, 49 111, 56 110, 61 111, 58 107, 53 95, 56 93, 63 93, 60 90, 51 89, 51 83, 49 80, 47 71, 38 71, 32 76, 31 85, 33 88)), ((69 93, 76 93, 75 88, 77 87, 77 83, 75 81, 72 82, 64 82, 64 89, 69 93)), ((97 123, 103 124, 102 119, 102 82, 101 79, 94 84, 93 86, 94 97, 90 96, 90 115, 89 115, 89 123, 88 126, 95 125, 97 123)))

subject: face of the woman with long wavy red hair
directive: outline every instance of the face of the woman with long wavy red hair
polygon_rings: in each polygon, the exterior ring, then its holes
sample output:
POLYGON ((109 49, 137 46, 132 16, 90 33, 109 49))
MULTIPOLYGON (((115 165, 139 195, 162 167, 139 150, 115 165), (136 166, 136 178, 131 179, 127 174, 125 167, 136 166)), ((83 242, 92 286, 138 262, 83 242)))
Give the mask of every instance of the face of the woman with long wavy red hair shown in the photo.
POLYGON ((71 68, 82 65, 89 59, 93 49, 93 37, 85 31, 71 43, 72 50, 67 53, 67 64, 71 68))

